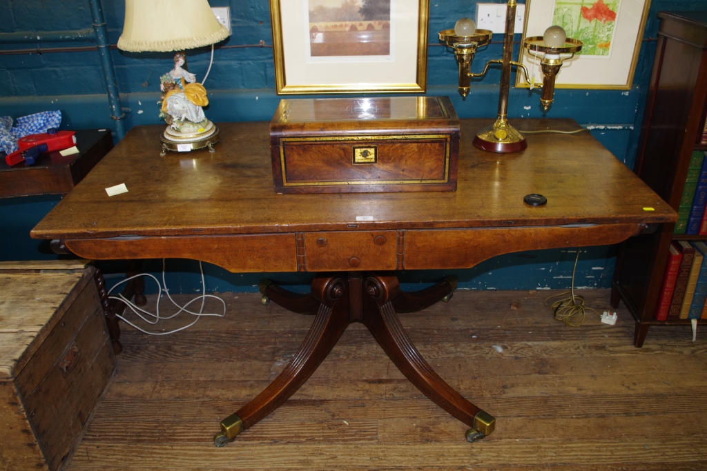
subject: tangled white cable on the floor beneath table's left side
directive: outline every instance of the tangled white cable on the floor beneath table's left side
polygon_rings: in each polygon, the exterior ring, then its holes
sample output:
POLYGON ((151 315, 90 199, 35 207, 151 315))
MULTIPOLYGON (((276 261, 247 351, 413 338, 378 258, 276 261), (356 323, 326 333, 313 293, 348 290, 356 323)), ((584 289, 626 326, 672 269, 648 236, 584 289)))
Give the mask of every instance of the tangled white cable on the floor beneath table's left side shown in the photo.
POLYGON ((117 318, 119 318, 121 321, 123 321, 124 323, 127 323, 130 326, 133 326, 137 330, 140 330, 141 332, 146 333, 148 335, 167 335, 170 333, 179 332, 180 330, 185 330, 186 328, 189 328, 189 327, 193 326, 195 323, 197 323, 197 321, 199 321, 199 318, 201 316, 218 316, 218 317, 226 316, 226 302, 223 301, 223 299, 221 299, 218 296, 214 296, 213 294, 206 294, 206 283, 204 282, 204 268, 201 266, 201 261, 199 261, 199 270, 201 271, 201 295, 197 296, 194 299, 192 299, 191 301, 187 302, 187 304, 185 304, 184 306, 180 306, 179 304, 177 304, 175 302, 175 300, 172 299, 172 297, 170 296, 170 292, 167 290, 167 283, 165 282, 165 259, 164 258, 162 259, 162 285, 160 285, 159 280, 157 278, 155 278, 153 275, 151 275, 150 273, 141 273, 140 275, 131 276, 130 278, 126 278, 125 280, 118 282, 115 286, 113 286, 112 288, 110 288, 110 290, 108 290, 108 297, 110 299, 117 299, 120 302, 124 302, 135 314, 137 314, 137 316, 139 318, 141 318, 143 321, 145 321, 148 324, 152 324, 154 326, 156 323, 158 323, 160 321, 160 319, 171 319, 171 318, 177 316, 177 314, 182 313, 182 311, 183 311, 183 312, 186 312, 187 314, 192 314, 192 316, 196 316, 194 321, 192 323, 189 323, 187 326, 176 328, 175 330, 168 330, 166 332, 149 332, 148 330, 145 330, 144 328, 136 326, 131 321, 128 321, 127 318, 124 318, 124 316, 120 316, 119 314, 116 314, 115 316, 117 318), (160 295, 157 297, 156 314, 152 314, 151 312, 141 309, 139 306, 136 306, 136 304, 134 304, 132 301, 125 298, 122 294, 118 294, 117 296, 110 296, 110 293, 113 290, 115 290, 116 287, 118 287, 119 285, 122 285, 123 283, 129 282, 133 278, 137 278, 139 276, 148 276, 148 277, 152 278, 153 280, 155 280, 155 282, 157 283, 158 292, 160 293, 160 295), (164 289, 163 289, 163 286, 164 286, 164 289), (179 311, 175 312, 175 314, 172 314, 171 316, 160 317, 160 299, 162 299, 162 292, 165 292, 165 294, 167 294, 167 297, 170 299, 172 304, 174 304, 175 306, 177 306, 179 308, 179 311), (204 313, 204 302, 206 302, 207 297, 218 299, 219 301, 221 301, 221 303, 223 303, 223 314, 204 313), (187 306, 189 306, 189 304, 192 304, 192 302, 197 301, 197 299, 201 299, 201 309, 199 309, 199 312, 189 311, 189 309, 187 309, 187 306), (142 314, 140 314, 140 313, 142 313, 142 314), (143 316, 143 314, 145 314, 147 317, 143 316), (150 318, 154 318, 154 320, 152 321, 150 318))

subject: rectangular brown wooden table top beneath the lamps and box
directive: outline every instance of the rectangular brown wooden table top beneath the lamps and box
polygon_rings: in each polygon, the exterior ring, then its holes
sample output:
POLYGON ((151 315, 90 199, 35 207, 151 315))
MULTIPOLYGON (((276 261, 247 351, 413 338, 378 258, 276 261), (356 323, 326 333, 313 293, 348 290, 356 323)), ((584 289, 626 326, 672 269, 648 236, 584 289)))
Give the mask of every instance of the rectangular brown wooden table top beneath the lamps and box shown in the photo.
MULTIPOLYGON (((136 126, 32 231, 35 238, 255 234, 362 229, 674 222, 677 213, 590 133, 527 135, 522 153, 472 140, 489 119, 463 119, 457 191, 279 195, 267 122, 218 124, 216 152, 160 157, 164 126, 136 126), (128 193, 105 189, 126 184, 128 193), (523 203, 528 193, 547 205, 523 203), (645 210, 644 208, 653 208, 645 210), (357 220, 370 216, 372 221, 357 220)), ((516 119, 578 129, 570 119, 516 119)))

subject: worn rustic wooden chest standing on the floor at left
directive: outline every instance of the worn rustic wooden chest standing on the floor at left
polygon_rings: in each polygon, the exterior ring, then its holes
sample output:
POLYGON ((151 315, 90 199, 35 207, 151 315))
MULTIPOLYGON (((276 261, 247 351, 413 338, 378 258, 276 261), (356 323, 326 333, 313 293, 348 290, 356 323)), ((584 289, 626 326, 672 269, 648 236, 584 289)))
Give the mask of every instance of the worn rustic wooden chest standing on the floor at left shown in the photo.
POLYGON ((95 270, 0 263, 0 465, 61 470, 115 371, 95 270))

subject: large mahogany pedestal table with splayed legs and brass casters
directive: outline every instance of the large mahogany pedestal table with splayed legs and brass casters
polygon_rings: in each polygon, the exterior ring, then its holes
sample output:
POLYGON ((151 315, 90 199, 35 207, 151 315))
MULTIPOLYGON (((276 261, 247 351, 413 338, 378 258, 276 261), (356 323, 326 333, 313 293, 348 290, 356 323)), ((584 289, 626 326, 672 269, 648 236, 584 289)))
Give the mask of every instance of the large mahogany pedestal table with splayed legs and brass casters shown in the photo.
MULTIPOLYGON (((219 124, 215 153, 160 157, 163 126, 137 126, 32 231, 89 259, 192 258, 235 273, 317 272, 310 294, 265 280, 264 300, 312 314, 284 371, 221 422, 223 446, 307 381, 351 322, 365 324, 428 398, 483 438, 495 419, 448 386, 411 343, 398 314, 448 300, 456 280, 403 292, 395 270, 470 268, 514 251, 617 244, 677 214, 588 132, 527 135, 527 150, 495 154, 472 139, 488 119, 464 119, 457 191, 279 195, 268 123, 219 124), (105 189, 126 184, 109 197, 105 189), (539 193, 547 204, 523 197, 539 193)), ((524 130, 579 129, 569 119, 515 120, 524 130)), ((117 321, 107 317, 117 342, 117 321)))

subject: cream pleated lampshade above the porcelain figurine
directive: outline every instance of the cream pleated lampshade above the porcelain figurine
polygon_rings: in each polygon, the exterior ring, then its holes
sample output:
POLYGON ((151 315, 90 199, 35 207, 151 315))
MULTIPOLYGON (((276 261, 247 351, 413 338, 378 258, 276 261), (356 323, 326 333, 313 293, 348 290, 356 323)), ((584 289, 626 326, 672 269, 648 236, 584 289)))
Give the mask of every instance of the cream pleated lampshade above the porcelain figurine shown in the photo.
POLYGON ((125 0, 125 24, 118 49, 129 52, 181 51, 228 37, 207 0, 125 0))

